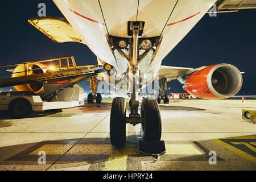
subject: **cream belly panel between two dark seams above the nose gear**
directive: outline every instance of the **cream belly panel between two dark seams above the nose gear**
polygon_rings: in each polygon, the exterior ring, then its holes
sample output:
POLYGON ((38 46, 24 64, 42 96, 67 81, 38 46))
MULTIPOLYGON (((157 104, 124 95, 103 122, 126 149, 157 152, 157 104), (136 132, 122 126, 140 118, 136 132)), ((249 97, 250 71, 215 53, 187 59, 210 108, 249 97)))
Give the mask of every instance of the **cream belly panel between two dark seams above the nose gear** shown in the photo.
POLYGON ((109 35, 128 38, 127 22, 143 21, 143 37, 159 36, 176 0, 100 0, 109 35))

